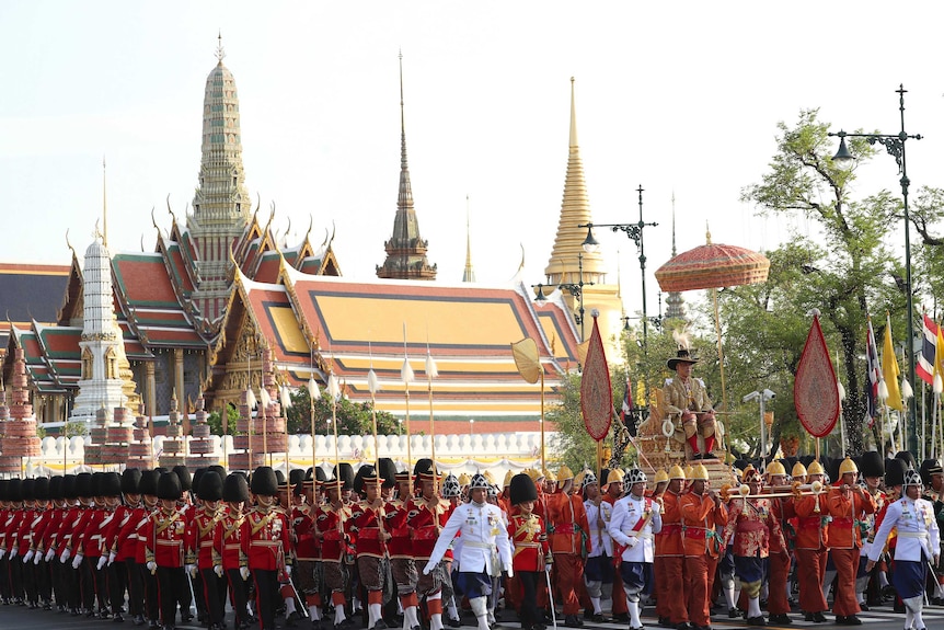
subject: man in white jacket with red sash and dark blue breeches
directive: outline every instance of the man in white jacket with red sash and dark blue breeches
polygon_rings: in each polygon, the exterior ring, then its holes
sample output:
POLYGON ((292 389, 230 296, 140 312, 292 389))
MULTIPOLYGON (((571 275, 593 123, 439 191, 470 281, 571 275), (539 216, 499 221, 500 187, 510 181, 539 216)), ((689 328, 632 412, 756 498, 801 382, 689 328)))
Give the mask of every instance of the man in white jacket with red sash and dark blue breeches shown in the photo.
MULTIPOLYGON (((653 535, 663 528, 658 503, 645 496, 646 476, 633 469, 625 482, 630 493, 613 506, 613 516, 607 530, 613 539, 613 554, 619 562, 623 591, 626 593, 626 607, 630 615, 630 630, 642 630, 640 620, 640 596, 647 586, 652 564, 655 559, 653 535)), ((651 586, 651 585, 649 585, 651 586)))

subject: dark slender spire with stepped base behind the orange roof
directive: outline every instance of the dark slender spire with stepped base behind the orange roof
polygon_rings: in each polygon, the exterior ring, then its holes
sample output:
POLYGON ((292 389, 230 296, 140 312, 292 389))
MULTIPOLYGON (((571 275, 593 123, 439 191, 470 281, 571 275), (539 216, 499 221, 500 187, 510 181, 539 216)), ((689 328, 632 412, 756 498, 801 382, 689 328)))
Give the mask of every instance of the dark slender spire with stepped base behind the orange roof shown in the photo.
POLYGON ((406 115, 403 105, 403 53, 400 53, 400 186, 396 192, 396 216, 393 234, 383 243, 387 260, 377 266, 377 277, 435 280, 436 265, 426 259, 428 241, 419 236, 419 221, 413 207, 413 187, 406 163, 406 115))

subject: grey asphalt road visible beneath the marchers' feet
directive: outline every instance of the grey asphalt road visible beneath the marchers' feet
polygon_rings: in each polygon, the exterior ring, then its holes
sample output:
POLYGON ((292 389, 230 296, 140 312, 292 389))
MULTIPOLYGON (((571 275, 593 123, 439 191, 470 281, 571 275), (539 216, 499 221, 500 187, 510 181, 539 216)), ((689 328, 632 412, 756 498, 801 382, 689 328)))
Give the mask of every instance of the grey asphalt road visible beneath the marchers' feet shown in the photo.
MULTIPOLYGON (((656 630, 656 619, 652 616, 653 608, 648 607, 643 612, 643 623, 648 630, 656 630)), ((232 628, 232 612, 228 614, 229 627, 232 628)), ((510 618, 511 616, 508 615, 510 618)), ((794 622, 792 626, 768 626, 776 630, 793 630, 797 628, 834 628, 833 623, 813 623, 803 621, 802 616, 793 614, 794 622)), ((832 616, 827 615, 831 620, 832 616)), ((867 612, 862 612, 859 616, 863 621, 863 628, 867 630, 901 630, 905 622, 905 616, 894 612, 890 606, 872 607, 867 612)), ((463 617, 463 628, 474 626, 471 617, 463 617)), ((944 607, 931 606, 924 609, 924 623, 928 630, 944 629, 944 607)), ((284 622, 279 621, 279 626, 284 627, 284 622)), ((507 630, 517 630, 519 625, 513 621, 502 623, 507 630)), ((88 619, 85 617, 70 617, 68 615, 59 615, 48 610, 30 610, 20 606, 2 606, 0 605, 0 628, 3 630, 134 630, 135 625, 126 619, 124 623, 114 623, 111 620, 88 619)), ((143 629, 147 626, 142 627, 143 629)), ((298 630, 308 630, 308 621, 301 620, 297 623, 298 630)), ((626 630, 625 623, 586 623, 585 630, 626 630)), ((712 623, 714 630, 744 630, 751 628, 746 622, 727 619, 727 615, 718 617, 715 623, 712 623)), ((179 625, 179 630, 202 630, 197 625, 179 625)))

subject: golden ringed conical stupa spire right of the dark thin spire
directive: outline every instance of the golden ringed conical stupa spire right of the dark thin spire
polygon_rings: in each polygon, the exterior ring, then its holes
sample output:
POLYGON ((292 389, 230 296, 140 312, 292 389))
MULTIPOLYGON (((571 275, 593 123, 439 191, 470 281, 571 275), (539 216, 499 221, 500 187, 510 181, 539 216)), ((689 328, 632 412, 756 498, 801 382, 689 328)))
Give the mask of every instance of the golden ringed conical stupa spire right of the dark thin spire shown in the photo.
POLYGON ((564 199, 557 221, 557 234, 551 260, 544 267, 549 284, 574 282, 577 278, 579 261, 583 256, 583 279, 595 284, 606 284, 606 265, 599 252, 584 252, 583 243, 587 228, 578 226, 592 222, 587 182, 584 179, 584 162, 577 142, 577 104, 574 77, 571 77, 571 126, 567 148, 567 174, 564 180, 564 199))

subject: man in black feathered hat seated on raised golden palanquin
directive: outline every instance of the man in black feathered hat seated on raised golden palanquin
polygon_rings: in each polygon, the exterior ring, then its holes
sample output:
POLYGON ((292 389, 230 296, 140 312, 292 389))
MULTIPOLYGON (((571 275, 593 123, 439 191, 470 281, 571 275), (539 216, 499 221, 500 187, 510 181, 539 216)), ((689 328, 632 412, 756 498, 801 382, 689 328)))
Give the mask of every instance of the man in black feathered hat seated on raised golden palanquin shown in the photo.
POLYGON ((681 421, 686 442, 692 450, 692 459, 715 459, 715 417, 704 382, 694 378, 692 366, 698 359, 687 348, 681 348, 666 365, 676 371, 663 388, 666 411, 681 421), (704 451, 699 446, 699 435, 704 437, 704 451))

